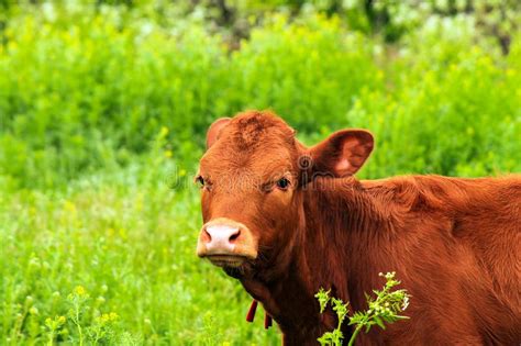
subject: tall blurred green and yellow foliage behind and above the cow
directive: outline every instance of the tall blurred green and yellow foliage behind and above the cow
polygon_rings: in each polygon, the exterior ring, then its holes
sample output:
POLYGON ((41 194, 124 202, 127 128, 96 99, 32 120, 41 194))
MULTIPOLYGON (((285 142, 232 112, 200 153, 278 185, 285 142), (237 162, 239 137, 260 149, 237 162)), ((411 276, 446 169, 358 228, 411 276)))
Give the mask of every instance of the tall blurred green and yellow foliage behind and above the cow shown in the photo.
POLYGON ((252 108, 303 135, 368 127, 368 177, 520 167, 519 1, 0 8, 0 174, 15 186, 125 165, 160 126, 182 156, 212 120, 252 108))

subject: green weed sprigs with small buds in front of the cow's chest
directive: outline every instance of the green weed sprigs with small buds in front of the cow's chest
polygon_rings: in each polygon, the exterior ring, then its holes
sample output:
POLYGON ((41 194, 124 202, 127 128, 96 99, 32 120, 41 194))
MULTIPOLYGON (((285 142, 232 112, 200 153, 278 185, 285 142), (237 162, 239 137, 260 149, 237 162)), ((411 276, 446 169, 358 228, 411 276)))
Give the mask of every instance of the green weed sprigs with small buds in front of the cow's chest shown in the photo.
POLYGON ((373 290, 373 293, 376 294, 376 298, 374 299, 366 293, 367 310, 354 312, 352 316, 348 315, 350 302, 344 303, 339 298, 330 297, 331 290, 325 291, 321 288, 314 295, 320 304, 320 313, 323 313, 328 308, 328 303, 330 303, 331 309, 336 313, 339 324, 332 332, 326 332, 318 338, 320 345, 342 345, 344 335, 341 328, 345 317, 350 320, 348 325, 355 326, 353 334, 347 342, 348 346, 354 344, 362 330, 364 330, 365 333, 368 333, 374 325, 385 330, 385 323, 395 323, 400 320, 409 319, 408 316, 400 315, 400 313, 409 306, 410 295, 407 293, 407 290, 400 289, 391 291, 395 286, 400 284, 400 281, 395 279, 395 275, 396 272, 387 272, 386 275, 380 272, 379 276, 386 278, 386 284, 381 291, 373 290))

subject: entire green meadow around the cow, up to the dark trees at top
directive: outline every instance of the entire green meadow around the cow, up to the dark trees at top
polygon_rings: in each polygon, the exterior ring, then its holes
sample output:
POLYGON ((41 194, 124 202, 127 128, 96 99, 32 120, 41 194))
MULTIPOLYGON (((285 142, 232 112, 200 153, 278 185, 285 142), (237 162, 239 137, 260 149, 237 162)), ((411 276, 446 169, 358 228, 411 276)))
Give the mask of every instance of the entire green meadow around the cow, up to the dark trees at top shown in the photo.
POLYGON ((361 178, 521 171, 519 30, 505 54, 464 16, 388 42, 277 10, 232 45, 197 11, 74 3, 0 1, 0 345, 279 344, 195 253, 219 116, 368 129, 361 178))

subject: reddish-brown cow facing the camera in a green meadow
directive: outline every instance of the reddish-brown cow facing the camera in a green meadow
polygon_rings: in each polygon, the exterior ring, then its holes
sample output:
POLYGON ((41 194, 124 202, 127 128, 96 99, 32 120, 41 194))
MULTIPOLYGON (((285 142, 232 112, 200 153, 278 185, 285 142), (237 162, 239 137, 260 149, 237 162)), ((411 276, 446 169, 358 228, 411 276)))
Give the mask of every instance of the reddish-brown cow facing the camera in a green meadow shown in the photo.
POLYGON ((207 147, 197 253, 241 280, 285 344, 315 345, 334 328, 331 310, 319 314, 321 287, 363 310, 386 271, 412 294, 410 320, 358 345, 521 343, 521 176, 361 181, 370 133, 308 148, 269 112, 218 120, 207 147))

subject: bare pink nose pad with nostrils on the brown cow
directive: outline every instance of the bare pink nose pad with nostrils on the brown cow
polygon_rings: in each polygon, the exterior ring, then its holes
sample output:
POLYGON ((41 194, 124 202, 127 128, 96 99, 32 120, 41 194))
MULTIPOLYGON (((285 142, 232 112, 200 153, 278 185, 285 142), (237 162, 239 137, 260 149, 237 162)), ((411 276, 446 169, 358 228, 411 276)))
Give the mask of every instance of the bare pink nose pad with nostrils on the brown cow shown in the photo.
POLYGON ((214 224, 204 227, 201 242, 207 247, 207 255, 228 255, 233 253, 240 235, 239 227, 214 224))

